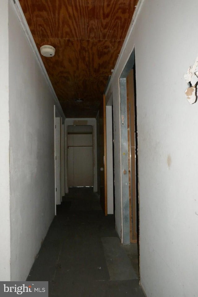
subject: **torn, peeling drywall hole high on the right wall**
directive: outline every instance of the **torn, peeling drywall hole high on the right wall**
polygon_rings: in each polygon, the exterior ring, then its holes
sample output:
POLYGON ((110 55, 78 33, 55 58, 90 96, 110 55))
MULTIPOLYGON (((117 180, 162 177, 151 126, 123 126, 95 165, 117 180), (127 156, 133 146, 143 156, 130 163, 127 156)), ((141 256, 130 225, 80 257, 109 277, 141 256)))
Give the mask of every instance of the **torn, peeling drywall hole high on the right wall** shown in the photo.
POLYGON ((185 90, 187 100, 190 104, 197 101, 197 84, 198 84, 198 56, 194 65, 188 68, 187 73, 184 75, 184 79, 187 82, 188 88, 185 90))

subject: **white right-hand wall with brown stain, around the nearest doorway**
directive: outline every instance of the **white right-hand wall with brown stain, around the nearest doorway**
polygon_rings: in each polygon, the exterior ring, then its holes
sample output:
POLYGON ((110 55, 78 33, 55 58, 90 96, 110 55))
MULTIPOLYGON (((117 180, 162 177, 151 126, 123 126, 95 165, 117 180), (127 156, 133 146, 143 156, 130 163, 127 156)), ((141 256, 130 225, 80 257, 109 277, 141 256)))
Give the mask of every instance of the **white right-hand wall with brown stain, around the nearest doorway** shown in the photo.
POLYGON ((188 104, 183 78, 198 53, 197 11, 197 0, 145 0, 107 90, 113 91, 119 234, 118 79, 135 45, 140 278, 148 297, 198 295, 198 103, 188 104))

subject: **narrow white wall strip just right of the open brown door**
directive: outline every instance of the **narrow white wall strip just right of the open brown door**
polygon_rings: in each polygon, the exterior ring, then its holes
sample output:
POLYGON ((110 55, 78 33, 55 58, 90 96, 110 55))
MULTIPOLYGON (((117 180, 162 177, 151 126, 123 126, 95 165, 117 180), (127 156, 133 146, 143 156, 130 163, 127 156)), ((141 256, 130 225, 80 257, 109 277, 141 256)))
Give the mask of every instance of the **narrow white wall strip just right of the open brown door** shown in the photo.
POLYGON ((114 213, 112 106, 106 106, 107 213, 114 213))

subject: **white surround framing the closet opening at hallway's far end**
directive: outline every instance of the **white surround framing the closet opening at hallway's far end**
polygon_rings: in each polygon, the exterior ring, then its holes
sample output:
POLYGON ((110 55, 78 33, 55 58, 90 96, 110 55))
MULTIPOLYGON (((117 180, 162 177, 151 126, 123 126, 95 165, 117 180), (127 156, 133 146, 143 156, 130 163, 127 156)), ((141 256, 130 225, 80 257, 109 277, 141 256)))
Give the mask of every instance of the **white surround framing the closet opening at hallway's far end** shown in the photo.
MULTIPOLYGON (((95 118, 66 118, 65 130, 67 126, 73 125, 91 125, 93 126, 93 192, 97 192, 97 125, 95 118)), ((67 134, 66 134, 67 137, 67 134)), ((67 142, 67 139, 66 139, 67 142)), ((66 150, 66 160, 68 160, 68 152, 66 150)), ((66 174, 66 189, 68 187, 68 169, 66 174)))

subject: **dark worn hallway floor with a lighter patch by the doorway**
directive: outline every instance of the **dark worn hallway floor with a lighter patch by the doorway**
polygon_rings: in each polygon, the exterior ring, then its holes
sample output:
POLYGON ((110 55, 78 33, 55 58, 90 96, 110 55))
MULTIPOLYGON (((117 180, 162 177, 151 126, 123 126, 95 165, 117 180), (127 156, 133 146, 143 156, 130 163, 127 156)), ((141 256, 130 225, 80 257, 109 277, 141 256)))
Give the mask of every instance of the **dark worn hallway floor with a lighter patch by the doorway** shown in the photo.
POLYGON ((27 280, 48 281, 49 296, 144 297, 136 244, 120 244, 92 188, 63 198, 27 280))

